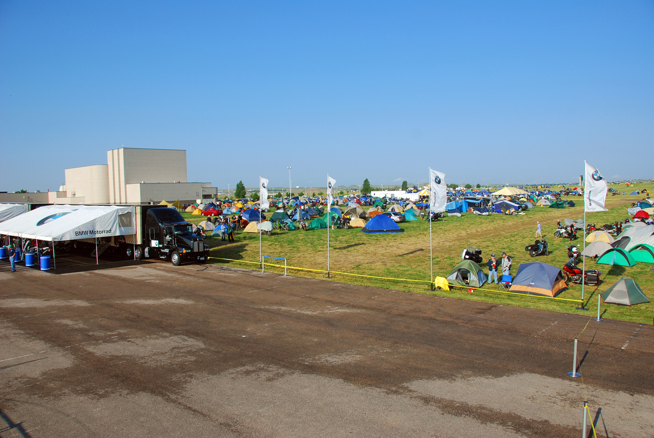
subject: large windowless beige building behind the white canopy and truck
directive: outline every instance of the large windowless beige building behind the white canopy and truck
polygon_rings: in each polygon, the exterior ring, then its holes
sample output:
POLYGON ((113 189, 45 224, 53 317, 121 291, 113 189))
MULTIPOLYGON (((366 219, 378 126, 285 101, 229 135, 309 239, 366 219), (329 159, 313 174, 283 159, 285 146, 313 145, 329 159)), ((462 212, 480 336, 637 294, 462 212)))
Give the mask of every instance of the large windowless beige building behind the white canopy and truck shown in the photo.
POLYGON ((186 150, 120 148, 107 152, 107 164, 65 169, 59 192, 0 194, 3 202, 53 204, 182 203, 213 199, 210 182, 187 182, 186 150), (5 199, 7 198, 7 199, 5 199))

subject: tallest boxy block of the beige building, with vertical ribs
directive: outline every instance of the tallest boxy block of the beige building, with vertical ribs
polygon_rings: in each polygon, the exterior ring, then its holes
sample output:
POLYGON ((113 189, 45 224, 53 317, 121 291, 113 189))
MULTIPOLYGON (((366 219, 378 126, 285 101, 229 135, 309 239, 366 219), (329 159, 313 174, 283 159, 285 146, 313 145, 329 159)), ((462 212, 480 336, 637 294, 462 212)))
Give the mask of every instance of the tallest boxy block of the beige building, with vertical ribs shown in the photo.
POLYGON ((186 150, 120 148, 107 152, 109 202, 131 203, 128 184, 186 182, 186 150))

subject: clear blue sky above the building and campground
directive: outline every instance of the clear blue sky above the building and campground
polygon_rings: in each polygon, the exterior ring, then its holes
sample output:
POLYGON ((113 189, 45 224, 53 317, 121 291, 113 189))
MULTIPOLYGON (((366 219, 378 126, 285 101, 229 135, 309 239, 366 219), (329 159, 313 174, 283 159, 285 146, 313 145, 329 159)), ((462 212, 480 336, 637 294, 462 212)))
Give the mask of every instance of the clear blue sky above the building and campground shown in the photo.
POLYGON ((232 188, 654 177, 654 2, 0 1, 0 190, 186 149, 232 188))

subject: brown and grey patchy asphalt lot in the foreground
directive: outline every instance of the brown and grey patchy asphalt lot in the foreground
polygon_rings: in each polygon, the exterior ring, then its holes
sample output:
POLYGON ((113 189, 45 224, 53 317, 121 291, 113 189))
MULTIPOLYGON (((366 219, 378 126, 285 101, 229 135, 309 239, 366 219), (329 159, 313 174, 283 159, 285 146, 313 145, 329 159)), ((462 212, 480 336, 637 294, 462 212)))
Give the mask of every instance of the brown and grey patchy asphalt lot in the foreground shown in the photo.
POLYGON ((654 436, 654 329, 233 265, 0 263, 0 437, 654 436), (583 382, 582 382, 583 379, 583 382))

